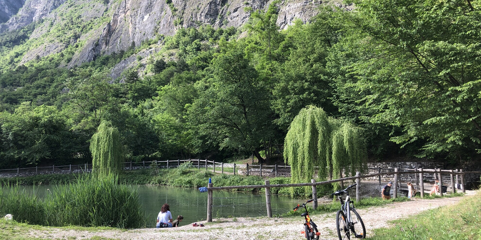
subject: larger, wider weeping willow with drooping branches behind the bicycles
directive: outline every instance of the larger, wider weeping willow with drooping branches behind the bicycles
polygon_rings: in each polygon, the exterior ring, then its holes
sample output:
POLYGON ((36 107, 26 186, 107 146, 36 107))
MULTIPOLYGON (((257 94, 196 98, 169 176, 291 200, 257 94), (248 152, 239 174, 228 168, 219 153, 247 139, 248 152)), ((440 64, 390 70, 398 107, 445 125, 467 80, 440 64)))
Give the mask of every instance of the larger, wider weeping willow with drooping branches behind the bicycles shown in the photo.
POLYGON ((292 120, 284 141, 284 160, 291 166, 291 181, 309 182, 314 166, 320 179, 354 174, 366 160, 361 129, 329 118, 322 108, 309 106, 292 120))

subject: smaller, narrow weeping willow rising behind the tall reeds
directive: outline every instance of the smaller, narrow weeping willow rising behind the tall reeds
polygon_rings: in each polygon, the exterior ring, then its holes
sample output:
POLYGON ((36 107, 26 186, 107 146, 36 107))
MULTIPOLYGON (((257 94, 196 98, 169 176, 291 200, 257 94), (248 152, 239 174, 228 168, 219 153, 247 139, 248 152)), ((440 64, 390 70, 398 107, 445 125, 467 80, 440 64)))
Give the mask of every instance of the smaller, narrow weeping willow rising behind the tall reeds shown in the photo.
POLYGON ((102 121, 90 141, 90 152, 95 176, 118 174, 123 160, 119 130, 110 122, 102 121))

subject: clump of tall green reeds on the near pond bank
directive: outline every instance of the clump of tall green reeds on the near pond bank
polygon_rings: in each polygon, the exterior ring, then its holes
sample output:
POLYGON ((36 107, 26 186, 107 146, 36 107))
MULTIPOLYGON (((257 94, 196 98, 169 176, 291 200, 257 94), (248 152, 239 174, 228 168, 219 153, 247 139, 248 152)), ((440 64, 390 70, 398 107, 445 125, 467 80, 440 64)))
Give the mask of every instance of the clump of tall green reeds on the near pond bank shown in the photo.
POLYGON ((83 176, 75 183, 55 186, 44 199, 14 187, 5 198, 1 194, 5 203, 0 214, 12 213, 18 222, 49 226, 145 226, 137 190, 118 182, 114 176, 83 176))

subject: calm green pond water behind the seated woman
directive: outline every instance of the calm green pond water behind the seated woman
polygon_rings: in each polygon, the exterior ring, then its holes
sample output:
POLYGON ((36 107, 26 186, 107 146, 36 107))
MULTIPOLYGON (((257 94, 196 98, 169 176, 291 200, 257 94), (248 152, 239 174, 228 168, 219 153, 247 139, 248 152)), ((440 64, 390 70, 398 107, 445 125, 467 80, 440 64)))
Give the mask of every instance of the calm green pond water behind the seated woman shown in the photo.
MULTIPOLYGON (((147 227, 155 227, 155 219, 164 203, 168 203, 172 217, 184 216, 180 225, 192 224, 207 218, 207 192, 197 189, 174 188, 164 186, 135 186, 138 189, 140 202, 145 212, 147 227)), ((26 188, 32 188, 27 186, 26 188)), ((48 185, 35 186, 40 197, 54 187, 48 185)), ((271 195, 272 214, 283 214, 297 203, 306 199, 293 199, 288 196, 271 195)), ((218 217, 258 217, 267 216, 265 194, 240 192, 213 192, 212 219, 218 217)))

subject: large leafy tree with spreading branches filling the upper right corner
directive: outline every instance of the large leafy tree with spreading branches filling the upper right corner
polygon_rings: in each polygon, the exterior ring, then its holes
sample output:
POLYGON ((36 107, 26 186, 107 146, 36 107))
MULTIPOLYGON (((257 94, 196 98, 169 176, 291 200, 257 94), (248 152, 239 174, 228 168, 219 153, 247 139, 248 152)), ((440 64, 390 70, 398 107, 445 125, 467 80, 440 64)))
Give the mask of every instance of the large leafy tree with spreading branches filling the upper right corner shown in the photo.
POLYGON ((473 154, 481 142, 479 4, 355 4, 340 22, 342 48, 354 56, 344 69, 355 78, 353 89, 365 93, 356 105, 369 107, 371 122, 401 127, 395 143, 422 141, 420 156, 447 153, 460 160, 463 152, 473 154))

